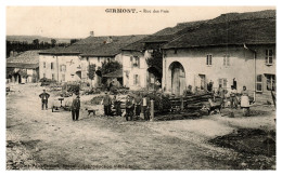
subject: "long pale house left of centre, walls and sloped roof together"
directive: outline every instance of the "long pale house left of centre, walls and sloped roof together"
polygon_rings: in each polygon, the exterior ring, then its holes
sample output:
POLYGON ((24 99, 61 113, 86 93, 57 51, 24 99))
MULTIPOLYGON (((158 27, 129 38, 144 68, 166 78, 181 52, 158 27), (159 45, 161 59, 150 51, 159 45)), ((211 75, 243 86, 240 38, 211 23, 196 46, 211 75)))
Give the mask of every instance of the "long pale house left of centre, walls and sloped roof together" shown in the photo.
POLYGON ((104 62, 121 60, 121 48, 144 36, 93 37, 90 36, 68 48, 56 48, 39 53, 40 79, 57 82, 81 81, 101 84, 100 68, 104 62), (95 77, 89 79, 89 65, 95 65, 95 77))

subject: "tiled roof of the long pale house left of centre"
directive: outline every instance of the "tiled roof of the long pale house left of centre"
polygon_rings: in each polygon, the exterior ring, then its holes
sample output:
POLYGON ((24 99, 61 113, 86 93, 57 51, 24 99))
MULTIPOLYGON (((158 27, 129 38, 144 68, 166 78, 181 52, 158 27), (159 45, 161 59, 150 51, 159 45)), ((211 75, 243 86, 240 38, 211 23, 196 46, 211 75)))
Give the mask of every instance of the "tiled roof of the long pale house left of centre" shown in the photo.
POLYGON ((112 43, 106 43, 108 37, 88 37, 67 48, 53 48, 40 52, 40 54, 81 54, 91 56, 113 56, 120 52, 127 44, 136 42, 144 35, 138 36, 112 36, 112 43))

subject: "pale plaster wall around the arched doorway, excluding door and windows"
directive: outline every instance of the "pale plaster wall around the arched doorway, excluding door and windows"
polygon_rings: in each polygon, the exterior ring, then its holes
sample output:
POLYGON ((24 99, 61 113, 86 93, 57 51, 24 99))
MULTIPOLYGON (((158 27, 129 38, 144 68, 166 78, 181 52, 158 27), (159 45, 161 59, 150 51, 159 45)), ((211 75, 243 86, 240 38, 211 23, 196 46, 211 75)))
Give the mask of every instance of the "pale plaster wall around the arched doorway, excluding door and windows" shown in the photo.
MULTIPOLYGON (((272 66, 265 64, 265 50, 274 46, 257 46, 256 58, 256 75, 258 73, 275 73, 275 59, 273 58, 272 66)), ((238 91, 242 90, 243 85, 247 90, 254 91, 255 85, 255 67, 254 54, 242 46, 229 48, 206 48, 206 49, 187 49, 166 51, 166 57, 163 60, 163 89, 166 87, 167 92, 171 92, 171 72, 169 66, 174 62, 182 64, 185 71, 185 83, 193 87, 200 84, 198 75, 205 75, 206 81, 214 81, 214 87, 218 87, 218 79, 226 78, 228 80, 227 87, 233 84, 233 78, 238 81, 238 91), (206 65, 206 55, 213 55, 213 65, 206 65), (230 66, 223 66, 223 55, 230 55, 230 66)))

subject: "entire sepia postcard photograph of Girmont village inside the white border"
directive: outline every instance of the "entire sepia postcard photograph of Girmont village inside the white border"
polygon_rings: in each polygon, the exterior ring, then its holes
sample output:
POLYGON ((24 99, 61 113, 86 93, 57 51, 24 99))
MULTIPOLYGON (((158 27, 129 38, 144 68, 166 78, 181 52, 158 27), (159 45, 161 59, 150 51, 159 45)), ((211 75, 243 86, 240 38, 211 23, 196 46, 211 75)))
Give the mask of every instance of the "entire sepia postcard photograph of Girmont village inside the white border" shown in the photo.
POLYGON ((7 171, 277 171, 277 8, 5 6, 4 137, 7 171))

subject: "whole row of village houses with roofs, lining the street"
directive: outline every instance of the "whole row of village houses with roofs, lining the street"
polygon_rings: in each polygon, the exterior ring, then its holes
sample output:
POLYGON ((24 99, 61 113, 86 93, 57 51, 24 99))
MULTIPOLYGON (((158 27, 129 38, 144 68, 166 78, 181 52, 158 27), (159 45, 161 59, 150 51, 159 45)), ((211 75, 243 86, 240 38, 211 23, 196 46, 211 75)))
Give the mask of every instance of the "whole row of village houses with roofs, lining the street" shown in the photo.
MULTIPOLYGON (((123 69, 104 77, 115 78, 131 90, 161 83, 164 92, 182 95, 190 85, 206 90, 211 81, 214 87, 230 89, 236 80, 239 90, 245 85, 267 94, 275 89, 275 11, 223 14, 209 21, 181 23, 150 36, 94 37, 91 31, 68 48, 12 56, 7 67, 15 68, 15 63, 28 55, 26 59, 31 62, 18 64, 20 68, 38 78, 27 81, 90 81, 90 64, 101 67, 102 62, 117 60, 123 69), (146 64, 154 51, 163 53, 161 69, 146 64), (33 63, 36 55, 37 62, 33 63)), ((100 76, 93 85, 101 82, 100 76)), ((21 75, 14 70, 9 78, 20 81, 21 75)))

